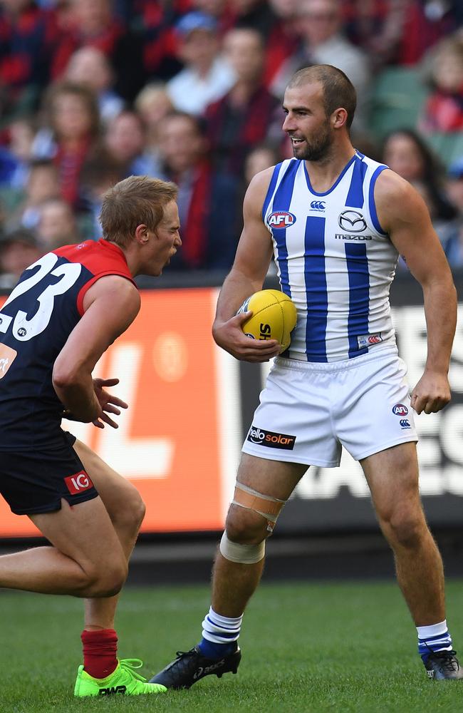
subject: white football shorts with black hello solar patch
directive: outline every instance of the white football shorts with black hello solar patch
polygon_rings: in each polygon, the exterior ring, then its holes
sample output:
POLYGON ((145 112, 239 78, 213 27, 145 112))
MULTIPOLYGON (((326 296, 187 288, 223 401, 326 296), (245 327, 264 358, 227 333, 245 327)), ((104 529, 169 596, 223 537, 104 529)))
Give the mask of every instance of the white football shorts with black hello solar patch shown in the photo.
POLYGON ((242 450, 335 468, 341 446, 360 461, 417 441, 406 374, 395 347, 328 364, 276 357, 242 450))

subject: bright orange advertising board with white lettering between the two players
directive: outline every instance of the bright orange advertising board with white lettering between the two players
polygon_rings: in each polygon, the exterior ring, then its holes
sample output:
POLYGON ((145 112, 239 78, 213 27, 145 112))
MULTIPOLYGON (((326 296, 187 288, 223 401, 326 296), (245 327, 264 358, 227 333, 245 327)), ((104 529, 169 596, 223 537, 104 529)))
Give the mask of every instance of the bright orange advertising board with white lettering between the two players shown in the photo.
MULTIPOLYGON (((63 421, 140 491, 142 531, 217 530, 239 458, 236 362, 214 344, 217 290, 142 292, 135 322, 95 366, 129 404, 119 428, 63 421)), ((36 535, 0 498, 0 536, 36 535)))

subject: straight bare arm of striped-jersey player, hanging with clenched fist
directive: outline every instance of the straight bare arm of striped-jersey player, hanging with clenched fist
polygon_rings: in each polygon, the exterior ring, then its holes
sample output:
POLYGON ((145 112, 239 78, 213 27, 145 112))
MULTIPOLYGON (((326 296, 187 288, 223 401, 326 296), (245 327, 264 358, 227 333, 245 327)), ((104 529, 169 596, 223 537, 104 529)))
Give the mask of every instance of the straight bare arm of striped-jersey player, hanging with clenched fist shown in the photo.
POLYGON ((447 378, 457 324, 457 292, 430 215, 417 191, 385 170, 375 187, 378 218, 423 290, 427 326, 425 372, 412 391, 418 414, 440 411, 450 400, 447 378))

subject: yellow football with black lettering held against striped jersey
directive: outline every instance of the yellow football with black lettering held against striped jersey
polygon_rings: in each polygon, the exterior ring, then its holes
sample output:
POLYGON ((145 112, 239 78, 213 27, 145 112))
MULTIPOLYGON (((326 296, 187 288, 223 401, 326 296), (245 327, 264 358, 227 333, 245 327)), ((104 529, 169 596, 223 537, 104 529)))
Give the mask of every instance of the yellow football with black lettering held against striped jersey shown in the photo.
POLYGON ((291 332, 296 327, 297 312, 291 297, 279 289, 261 289, 244 300, 236 314, 252 312, 241 324, 246 337, 276 339, 281 351, 288 349, 291 332))

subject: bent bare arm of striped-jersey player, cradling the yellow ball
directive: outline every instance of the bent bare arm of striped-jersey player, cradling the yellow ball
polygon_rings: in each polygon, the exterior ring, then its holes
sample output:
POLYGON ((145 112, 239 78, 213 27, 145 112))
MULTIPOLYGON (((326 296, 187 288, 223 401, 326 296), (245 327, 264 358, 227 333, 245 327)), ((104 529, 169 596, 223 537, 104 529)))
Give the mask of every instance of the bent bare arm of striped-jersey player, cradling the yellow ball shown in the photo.
POLYGON ((224 281, 217 301, 212 334, 219 347, 236 359, 269 361, 279 354, 275 339, 268 342, 245 337, 241 324, 251 314, 236 315, 242 302, 262 289, 272 255, 271 237, 262 220, 262 205, 269 186, 272 168, 258 173, 246 191, 243 205, 244 228, 241 232, 234 264, 224 281), (236 316, 235 316, 236 315, 236 316))

